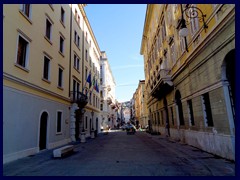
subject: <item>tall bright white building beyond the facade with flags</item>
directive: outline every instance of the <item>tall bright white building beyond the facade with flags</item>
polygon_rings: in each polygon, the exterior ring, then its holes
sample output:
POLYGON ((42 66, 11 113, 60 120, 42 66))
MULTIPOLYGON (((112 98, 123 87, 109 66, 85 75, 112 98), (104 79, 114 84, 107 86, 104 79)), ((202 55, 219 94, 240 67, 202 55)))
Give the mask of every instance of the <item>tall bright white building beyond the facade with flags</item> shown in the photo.
POLYGON ((101 52, 100 61, 101 126, 103 129, 106 129, 107 127, 111 128, 117 126, 117 106, 115 100, 116 83, 105 51, 101 52))

